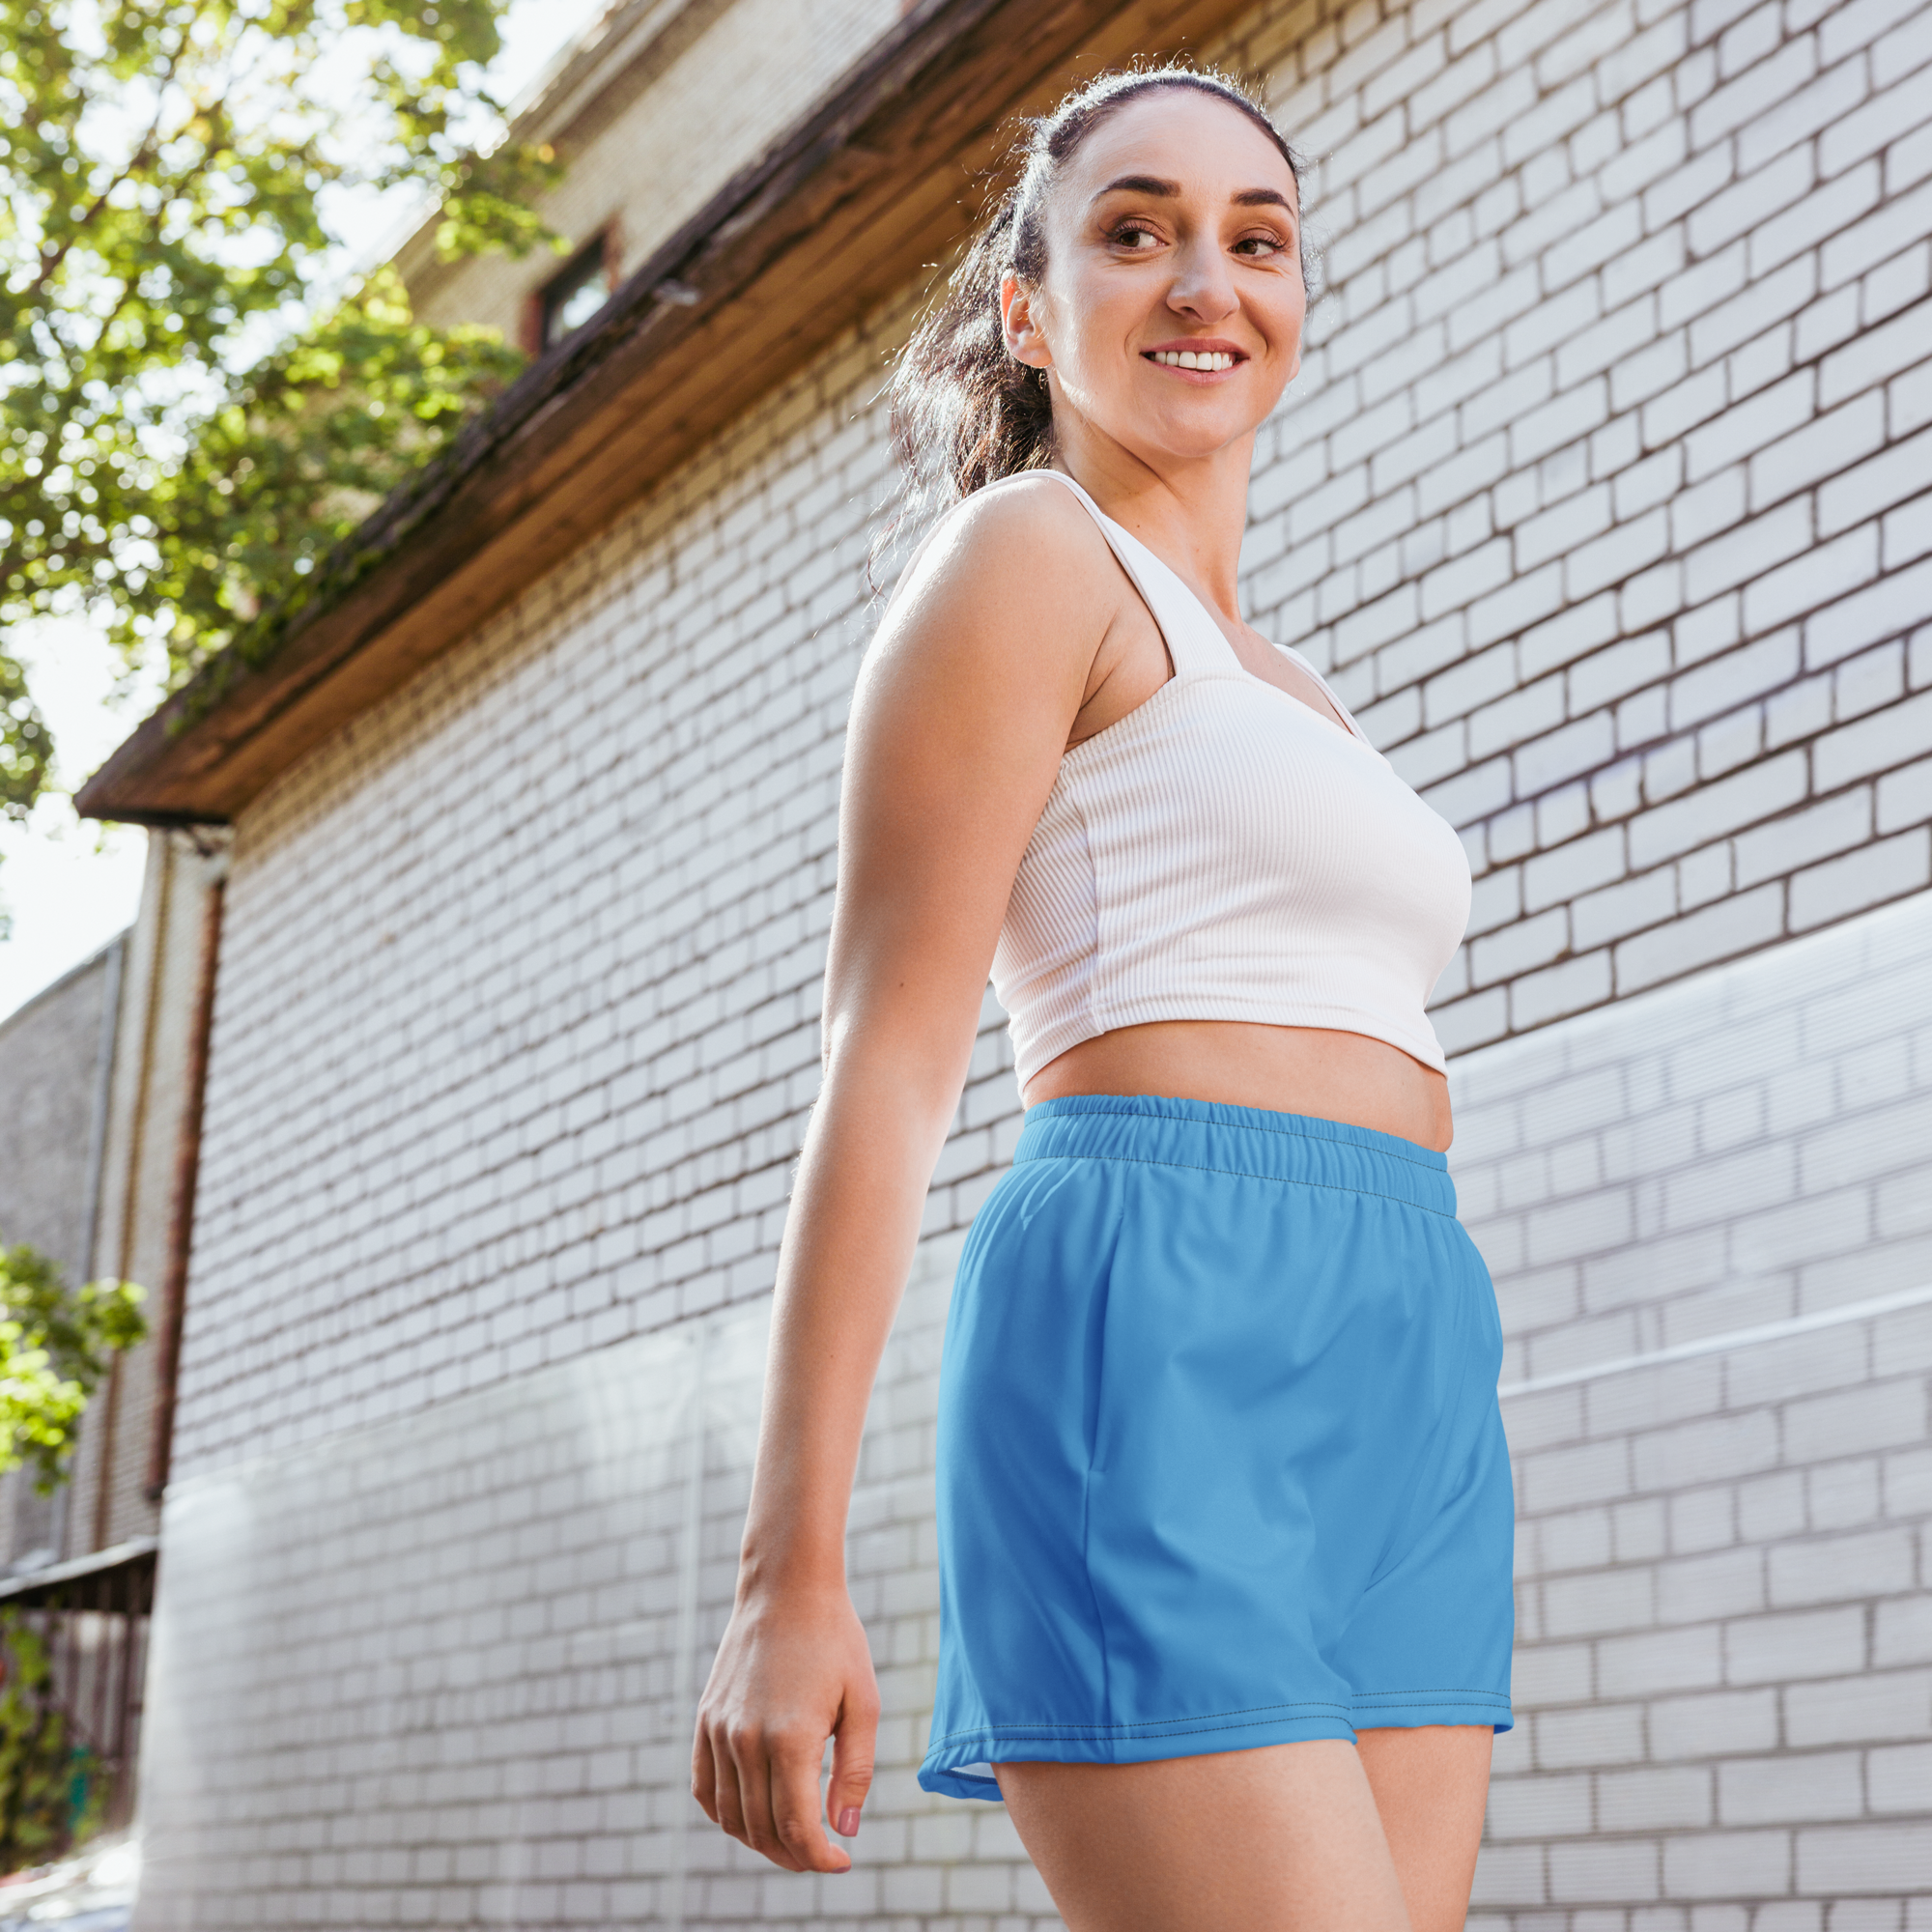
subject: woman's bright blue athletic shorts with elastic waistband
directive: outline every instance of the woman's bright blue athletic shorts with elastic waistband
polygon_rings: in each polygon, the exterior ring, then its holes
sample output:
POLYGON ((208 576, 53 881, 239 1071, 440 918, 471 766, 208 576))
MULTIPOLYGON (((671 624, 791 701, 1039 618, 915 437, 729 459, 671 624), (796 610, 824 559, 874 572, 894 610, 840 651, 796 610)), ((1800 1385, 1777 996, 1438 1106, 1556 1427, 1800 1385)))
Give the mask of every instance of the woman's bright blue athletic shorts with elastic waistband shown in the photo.
POLYGON ((1028 1109, 947 1318, 920 1783, 1507 1731, 1501 1352, 1441 1153, 1194 1099, 1028 1109))

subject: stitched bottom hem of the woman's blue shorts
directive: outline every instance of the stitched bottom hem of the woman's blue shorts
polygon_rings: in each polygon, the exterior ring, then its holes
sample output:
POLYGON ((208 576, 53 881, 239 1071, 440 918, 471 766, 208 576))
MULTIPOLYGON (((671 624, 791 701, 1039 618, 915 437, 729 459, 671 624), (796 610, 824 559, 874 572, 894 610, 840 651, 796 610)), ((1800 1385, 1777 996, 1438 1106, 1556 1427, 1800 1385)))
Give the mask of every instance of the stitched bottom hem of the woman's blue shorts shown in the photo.
POLYGON ((1490 1725, 1507 1731, 1515 1718, 1509 1698, 1490 1690, 1368 1692, 1347 1704, 1302 1706, 1302 1716, 1227 1712, 1213 1718, 1136 1725, 1003 1723, 954 1731, 920 1766, 922 1791, 999 1803, 999 1785, 978 1766, 991 1762, 1153 1764, 1163 1758, 1206 1758, 1221 1750, 1260 1750, 1312 1737, 1354 1743, 1356 1731, 1399 1731, 1424 1725, 1490 1725), (970 1770, 968 1770, 970 1768, 970 1770))

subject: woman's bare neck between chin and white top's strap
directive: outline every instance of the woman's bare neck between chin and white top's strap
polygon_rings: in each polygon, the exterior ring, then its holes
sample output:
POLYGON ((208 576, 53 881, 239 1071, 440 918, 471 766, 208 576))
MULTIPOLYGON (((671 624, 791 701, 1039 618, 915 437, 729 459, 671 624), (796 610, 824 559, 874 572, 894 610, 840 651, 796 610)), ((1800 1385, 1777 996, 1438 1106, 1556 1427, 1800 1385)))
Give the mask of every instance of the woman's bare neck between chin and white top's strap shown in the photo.
POLYGON ((1146 458, 1072 410, 1055 423, 1053 462, 1161 562, 1240 622, 1240 537, 1248 526, 1252 431, 1211 456, 1146 458), (1065 425, 1065 427, 1063 427, 1065 425))

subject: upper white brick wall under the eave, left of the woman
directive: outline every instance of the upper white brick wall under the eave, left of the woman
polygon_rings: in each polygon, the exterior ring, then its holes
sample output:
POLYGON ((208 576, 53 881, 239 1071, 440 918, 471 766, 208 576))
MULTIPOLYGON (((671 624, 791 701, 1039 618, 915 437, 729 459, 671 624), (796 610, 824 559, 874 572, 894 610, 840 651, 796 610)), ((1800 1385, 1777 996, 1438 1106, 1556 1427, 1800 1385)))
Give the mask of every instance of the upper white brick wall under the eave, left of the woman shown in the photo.
MULTIPOLYGON (((769 1289, 877 369, 875 340, 827 357, 243 819, 182 1474, 769 1289)), ((935 1229, 1010 1146, 976 1119, 1016 1111, 1009 1065, 989 1037, 935 1229)))

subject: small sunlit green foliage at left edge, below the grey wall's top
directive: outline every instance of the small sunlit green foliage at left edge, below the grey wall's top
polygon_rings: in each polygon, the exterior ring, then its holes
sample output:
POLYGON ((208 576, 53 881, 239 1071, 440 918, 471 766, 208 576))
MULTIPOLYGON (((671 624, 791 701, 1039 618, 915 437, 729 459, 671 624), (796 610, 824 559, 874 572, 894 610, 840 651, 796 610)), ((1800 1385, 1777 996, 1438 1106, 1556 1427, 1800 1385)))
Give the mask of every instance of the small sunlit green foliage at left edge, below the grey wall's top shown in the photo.
POLYGON ((131 1281, 70 1289, 39 1248, 0 1248, 0 1474, 25 1464, 43 1493, 66 1480, 89 1395, 147 1335, 145 1298, 131 1281))

